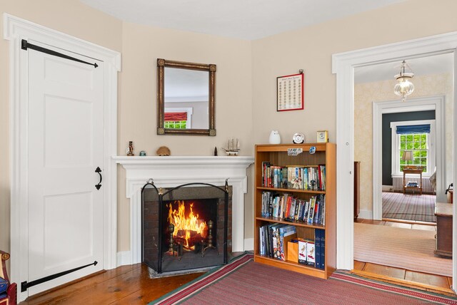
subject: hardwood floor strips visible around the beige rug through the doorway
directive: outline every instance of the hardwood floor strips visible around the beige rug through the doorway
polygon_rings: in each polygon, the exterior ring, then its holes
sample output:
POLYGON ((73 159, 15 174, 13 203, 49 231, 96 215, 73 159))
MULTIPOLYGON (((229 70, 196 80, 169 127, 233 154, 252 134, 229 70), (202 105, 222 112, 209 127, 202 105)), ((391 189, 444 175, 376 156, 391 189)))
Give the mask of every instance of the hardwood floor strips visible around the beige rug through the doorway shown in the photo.
MULTIPOLYGON (((431 223, 424 222, 393 222, 389 220, 357 219, 356 222, 385 225, 390 227, 403 227, 407 229, 426 229, 436 231, 436 224, 433 225, 431 223)), ((456 296, 451 289, 452 278, 448 276, 414 272, 407 269, 359 261, 354 261, 354 269, 352 272, 370 279, 378 279, 411 288, 456 296)))

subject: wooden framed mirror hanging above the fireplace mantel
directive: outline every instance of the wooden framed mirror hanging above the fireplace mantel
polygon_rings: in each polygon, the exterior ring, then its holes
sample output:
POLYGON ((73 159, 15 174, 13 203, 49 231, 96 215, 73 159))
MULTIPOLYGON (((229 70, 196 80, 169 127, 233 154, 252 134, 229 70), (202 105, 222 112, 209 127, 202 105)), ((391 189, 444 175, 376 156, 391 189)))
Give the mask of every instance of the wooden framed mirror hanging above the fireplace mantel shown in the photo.
POLYGON ((157 134, 216 135, 216 65, 157 58, 157 134))

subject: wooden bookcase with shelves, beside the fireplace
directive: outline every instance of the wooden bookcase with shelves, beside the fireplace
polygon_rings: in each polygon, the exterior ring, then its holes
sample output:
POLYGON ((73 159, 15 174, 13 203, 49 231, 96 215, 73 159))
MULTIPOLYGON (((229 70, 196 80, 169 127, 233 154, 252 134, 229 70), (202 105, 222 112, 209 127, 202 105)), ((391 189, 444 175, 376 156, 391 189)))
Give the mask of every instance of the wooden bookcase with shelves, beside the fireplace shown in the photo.
POLYGON ((268 264, 273 267, 288 269, 327 279, 336 269, 336 145, 333 143, 290 144, 290 145, 256 145, 255 161, 255 195, 254 195, 254 261, 268 264), (303 153, 289 155, 288 149, 301 148, 303 153), (316 148, 315 153, 310 153, 310 148, 316 148), (326 166, 325 190, 297 190, 288 188, 273 188, 262 186, 263 162, 283 167, 299 167, 317 165, 326 166), (325 195, 325 225, 301 222, 297 220, 282 219, 277 217, 262 216, 262 193, 275 192, 278 195, 288 194, 302 200, 310 200, 312 196, 325 195), (271 224, 293 224, 296 227, 297 237, 314 240, 315 229, 325 232, 325 269, 318 269, 297 262, 282 261, 260 254, 260 227, 271 224))

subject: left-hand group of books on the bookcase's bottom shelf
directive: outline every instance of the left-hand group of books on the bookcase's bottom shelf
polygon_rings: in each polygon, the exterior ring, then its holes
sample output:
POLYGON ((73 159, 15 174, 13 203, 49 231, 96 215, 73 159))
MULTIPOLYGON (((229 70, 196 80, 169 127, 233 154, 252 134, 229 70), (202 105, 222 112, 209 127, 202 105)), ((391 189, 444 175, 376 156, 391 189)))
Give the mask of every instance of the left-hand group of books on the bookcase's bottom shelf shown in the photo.
POLYGON ((261 255, 286 260, 286 246, 290 239, 296 238, 296 227, 278 222, 265 224, 260 229, 259 252, 261 255))

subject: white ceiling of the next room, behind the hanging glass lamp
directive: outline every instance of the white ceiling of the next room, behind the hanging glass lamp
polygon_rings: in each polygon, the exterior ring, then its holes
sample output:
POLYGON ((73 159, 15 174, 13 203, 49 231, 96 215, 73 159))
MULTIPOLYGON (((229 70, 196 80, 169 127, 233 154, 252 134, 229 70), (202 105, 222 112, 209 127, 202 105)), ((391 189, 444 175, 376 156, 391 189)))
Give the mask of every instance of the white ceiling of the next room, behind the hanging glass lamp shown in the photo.
MULTIPOLYGON (((405 59, 416 78, 418 76, 453 72, 453 53, 405 59)), ((394 80, 394 76, 400 72, 400 65, 401 61, 396 61, 355 68, 354 83, 394 80)))

